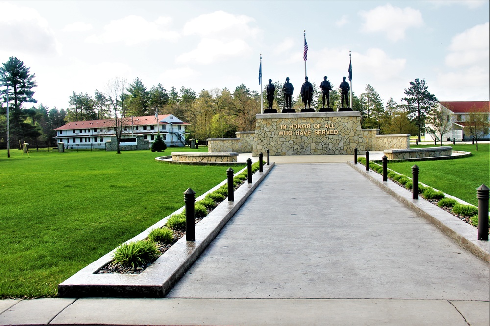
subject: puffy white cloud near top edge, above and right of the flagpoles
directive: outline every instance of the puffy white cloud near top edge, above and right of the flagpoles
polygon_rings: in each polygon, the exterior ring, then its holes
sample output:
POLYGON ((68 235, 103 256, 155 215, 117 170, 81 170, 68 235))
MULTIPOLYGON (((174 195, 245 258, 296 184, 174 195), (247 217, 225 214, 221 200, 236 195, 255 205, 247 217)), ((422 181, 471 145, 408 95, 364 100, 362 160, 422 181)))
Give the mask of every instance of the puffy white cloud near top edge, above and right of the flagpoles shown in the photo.
POLYGON ((401 9, 389 3, 370 11, 361 11, 359 15, 365 20, 361 31, 386 33, 386 37, 391 41, 403 39, 408 28, 420 27, 423 24, 419 10, 410 7, 401 9))

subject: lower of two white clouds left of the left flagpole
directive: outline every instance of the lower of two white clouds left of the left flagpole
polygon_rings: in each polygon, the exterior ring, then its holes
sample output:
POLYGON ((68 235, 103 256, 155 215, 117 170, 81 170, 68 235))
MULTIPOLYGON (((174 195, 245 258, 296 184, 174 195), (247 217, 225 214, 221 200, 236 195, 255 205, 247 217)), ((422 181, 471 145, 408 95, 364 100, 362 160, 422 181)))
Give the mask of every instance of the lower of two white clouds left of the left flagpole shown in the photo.
POLYGON ((202 39, 196 49, 181 54, 177 57, 177 62, 198 62, 201 64, 210 64, 215 59, 247 55, 250 51, 248 44, 240 39, 233 41, 221 41, 215 39, 202 39))

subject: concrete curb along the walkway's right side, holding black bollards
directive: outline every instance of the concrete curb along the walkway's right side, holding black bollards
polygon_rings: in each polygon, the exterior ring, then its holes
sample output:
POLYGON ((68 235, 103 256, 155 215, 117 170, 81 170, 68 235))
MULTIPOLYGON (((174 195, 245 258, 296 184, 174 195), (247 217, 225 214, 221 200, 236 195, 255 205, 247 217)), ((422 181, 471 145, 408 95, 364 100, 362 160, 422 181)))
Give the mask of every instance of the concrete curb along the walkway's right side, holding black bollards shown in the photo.
POLYGON ((489 242, 477 239, 478 230, 475 227, 423 198, 418 200, 412 199, 412 192, 400 187, 391 180, 383 181, 381 174, 374 171, 365 171, 366 167, 362 164, 354 164, 354 162, 347 162, 347 164, 418 215, 437 226, 444 234, 454 239, 475 256, 484 261, 489 261, 489 242))

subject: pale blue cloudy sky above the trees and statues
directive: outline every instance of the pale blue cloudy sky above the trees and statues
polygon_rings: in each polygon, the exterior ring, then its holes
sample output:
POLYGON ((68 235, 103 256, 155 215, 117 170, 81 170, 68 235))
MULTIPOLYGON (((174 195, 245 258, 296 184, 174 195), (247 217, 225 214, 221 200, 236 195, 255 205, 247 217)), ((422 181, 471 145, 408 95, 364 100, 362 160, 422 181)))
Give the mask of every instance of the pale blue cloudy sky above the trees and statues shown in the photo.
MULTIPOLYGON (((441 101, 489 100, 489 1, 0 1, 0 61, 15 56, 36 74, 38 104, 105 91, 139 77, 202 89, 307 74, 333 87, 352 52, 355 94, 374 87, 400 103, 425 78, 441 101)), ((264 85, 265 87, 265 85, 264 85)))

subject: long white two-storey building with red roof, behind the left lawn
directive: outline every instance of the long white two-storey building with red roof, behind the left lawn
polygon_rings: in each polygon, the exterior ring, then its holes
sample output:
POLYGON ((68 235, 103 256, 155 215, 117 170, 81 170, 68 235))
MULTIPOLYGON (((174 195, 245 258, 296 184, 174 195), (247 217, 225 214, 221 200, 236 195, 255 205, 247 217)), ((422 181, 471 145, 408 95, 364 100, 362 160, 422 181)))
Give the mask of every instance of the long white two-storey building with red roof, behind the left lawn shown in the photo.
MULTIPOLYGON (((122 138, 134 139, 136 135, 143 135, 144 139, 153 142, 160 132, 167 146, 184 146, 187 125, 189 123, 183 122, 172 114, 160 114, 158 119, 154 115, 126 117, 123 121, 122 138)), ((53 129, 57 133, 54 138, 69 147, 104 148, 105 142, 115 135, 115 126, 114 119, 69 122, 53 129)))

